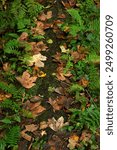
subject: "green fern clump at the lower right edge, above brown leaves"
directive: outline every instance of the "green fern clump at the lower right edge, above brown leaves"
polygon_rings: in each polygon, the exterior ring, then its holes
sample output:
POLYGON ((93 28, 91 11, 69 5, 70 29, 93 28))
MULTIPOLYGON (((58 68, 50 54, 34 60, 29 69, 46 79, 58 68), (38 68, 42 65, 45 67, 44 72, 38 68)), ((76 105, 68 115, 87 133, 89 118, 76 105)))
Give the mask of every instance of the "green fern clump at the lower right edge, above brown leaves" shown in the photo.
POLYGON ((75 129, 90 129, 93 133, 99 128, 99 108, 91 105, 85 110, 70 109, 72 112, 70 121, 75 129))

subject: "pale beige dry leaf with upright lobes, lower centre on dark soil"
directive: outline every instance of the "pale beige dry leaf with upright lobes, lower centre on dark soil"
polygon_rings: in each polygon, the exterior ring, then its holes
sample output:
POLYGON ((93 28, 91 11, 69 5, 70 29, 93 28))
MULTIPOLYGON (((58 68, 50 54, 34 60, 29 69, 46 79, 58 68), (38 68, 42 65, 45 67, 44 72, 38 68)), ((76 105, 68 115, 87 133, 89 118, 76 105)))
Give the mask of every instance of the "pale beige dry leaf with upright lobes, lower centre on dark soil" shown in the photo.
POLYGON ((58 131, 60 130, 62 127, 68 125, 68 122, 64 123, 64 118, 63 116, 61 116, 60 118, 58 118, 57 120, 53 117, 52 119, 48 119, 48 125, 49 127, 54 130, 54 131, 58 131))

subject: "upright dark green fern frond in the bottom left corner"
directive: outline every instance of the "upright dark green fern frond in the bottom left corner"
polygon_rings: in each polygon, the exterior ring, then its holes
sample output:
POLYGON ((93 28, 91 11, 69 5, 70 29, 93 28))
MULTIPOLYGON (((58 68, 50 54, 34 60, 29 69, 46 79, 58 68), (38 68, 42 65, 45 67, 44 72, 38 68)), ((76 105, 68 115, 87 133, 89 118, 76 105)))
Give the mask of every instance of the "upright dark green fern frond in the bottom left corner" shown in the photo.
POLYGON ((20 127, 14 126, 7 132, 5 141, 9 145, 9 147, 12 147, 17 145, 19 137, 20 137, 20 127))

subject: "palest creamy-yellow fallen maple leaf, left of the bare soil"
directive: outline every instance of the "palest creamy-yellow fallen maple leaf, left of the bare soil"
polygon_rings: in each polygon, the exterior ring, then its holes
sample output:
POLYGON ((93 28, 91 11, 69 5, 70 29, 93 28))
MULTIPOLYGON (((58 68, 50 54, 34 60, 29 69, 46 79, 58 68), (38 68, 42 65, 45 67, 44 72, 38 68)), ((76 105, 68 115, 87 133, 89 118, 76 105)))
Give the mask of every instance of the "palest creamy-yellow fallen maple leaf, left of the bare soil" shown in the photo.
POLYGON ((44 63, 42 61, 46 61, 47 57, 43 56, 41 53, 35 54, 32 56, 31 60, 28 61, 28 66, 37 66, 44 67, 44 63))

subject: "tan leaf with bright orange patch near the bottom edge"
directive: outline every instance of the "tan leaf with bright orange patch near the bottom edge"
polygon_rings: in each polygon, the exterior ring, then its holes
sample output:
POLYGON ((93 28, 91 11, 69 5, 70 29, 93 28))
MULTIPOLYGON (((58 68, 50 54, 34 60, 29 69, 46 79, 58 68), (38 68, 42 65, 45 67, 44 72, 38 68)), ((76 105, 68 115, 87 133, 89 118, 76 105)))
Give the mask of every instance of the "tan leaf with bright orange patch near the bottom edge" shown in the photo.
POLYGON ((69 137, 69 144, 67 145, 67 147, 69 148, 69 149, 75 149, 75 147, 77 146, 77 144, 78 144, 78 141, 79 141, 79 137, 76 135, 76 134, 74 134, 74 135, 72 135, 72 136, 70 136, 69 137))

